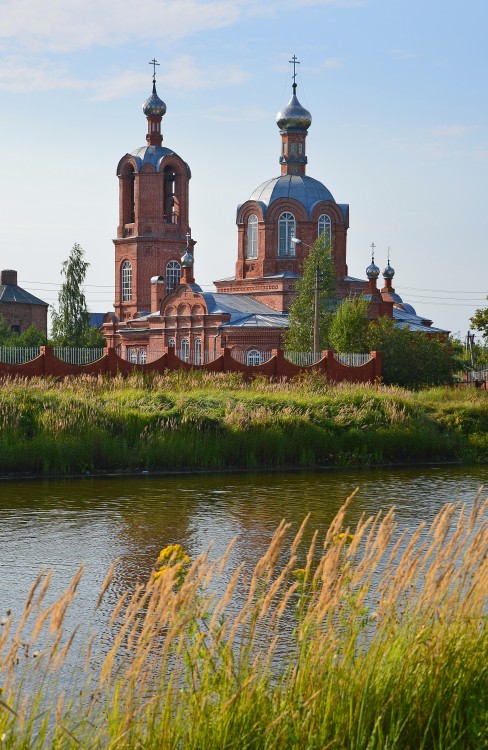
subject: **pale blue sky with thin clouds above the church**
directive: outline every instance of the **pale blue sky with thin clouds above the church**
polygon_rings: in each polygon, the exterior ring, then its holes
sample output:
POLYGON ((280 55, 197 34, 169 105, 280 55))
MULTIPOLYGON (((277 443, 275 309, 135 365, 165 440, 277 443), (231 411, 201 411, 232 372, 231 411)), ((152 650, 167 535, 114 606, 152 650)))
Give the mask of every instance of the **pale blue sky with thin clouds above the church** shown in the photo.
POLYGON ((488 294, 487 25, 486 0, 0 0, 0 267, 55 305, 78 242, 90 310, 112 309, 116 167, 145 144, 156 58, 196 281, 233 275, 296 55, 307 174, 349 203, 349 274, 390 248, 404 301, 464 338, 488 294))

